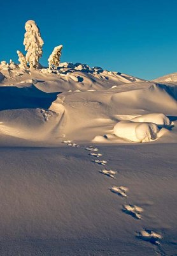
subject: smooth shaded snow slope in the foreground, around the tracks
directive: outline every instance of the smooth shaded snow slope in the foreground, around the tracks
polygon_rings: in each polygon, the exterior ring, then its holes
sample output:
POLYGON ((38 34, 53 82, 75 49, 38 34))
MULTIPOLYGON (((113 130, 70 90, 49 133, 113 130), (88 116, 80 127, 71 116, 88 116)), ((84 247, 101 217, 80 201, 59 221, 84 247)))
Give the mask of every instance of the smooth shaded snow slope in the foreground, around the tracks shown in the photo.
POLYGON ((115 179, 84 147, 0 152, 1 255, 176 255, 176 143, 99 147, 115 179), (142 207, 142 220, 124 204, 142 207), (137 237, 146 228, 160 246, 137 237))

